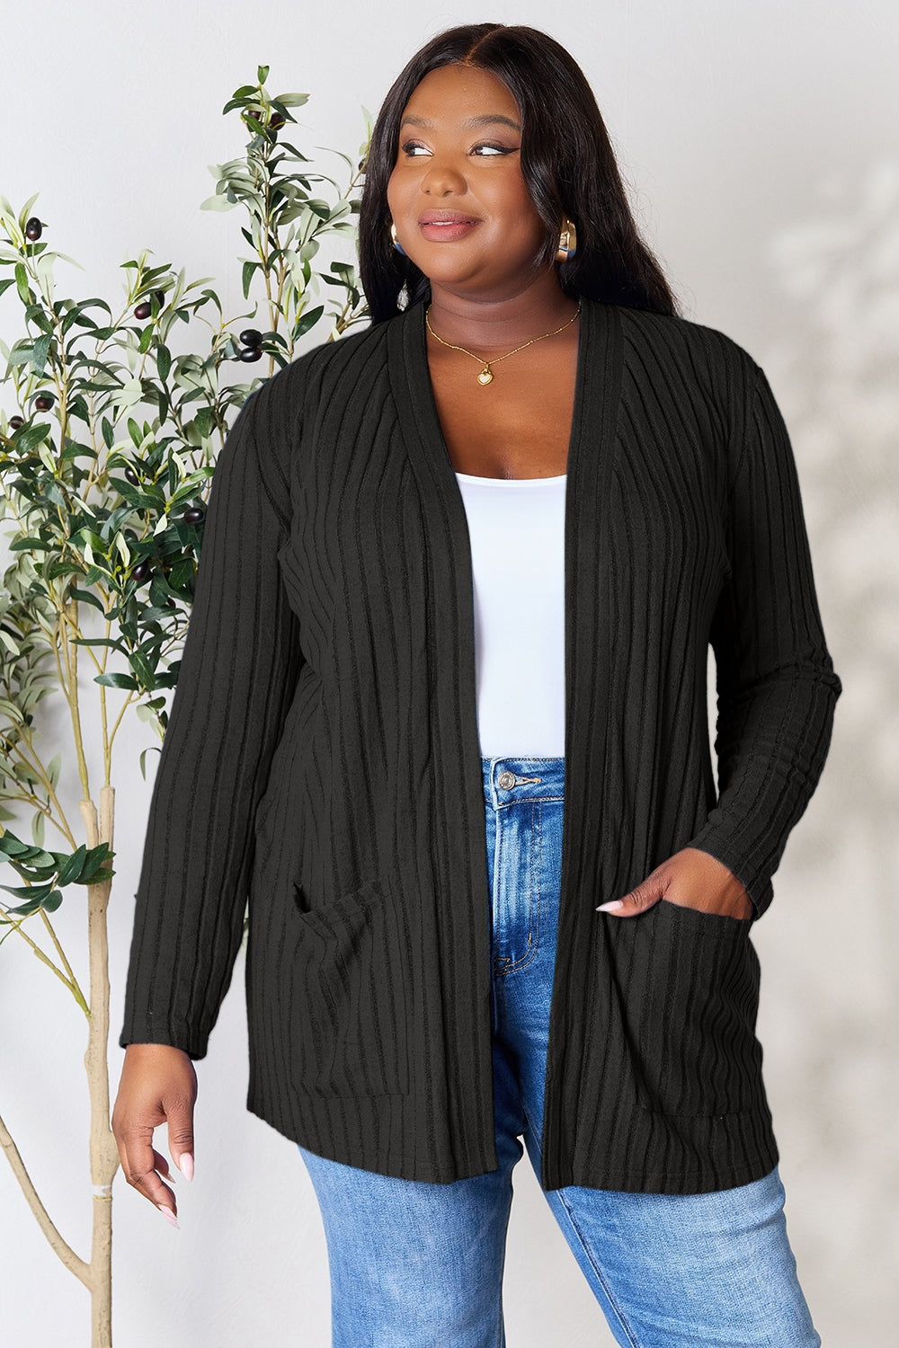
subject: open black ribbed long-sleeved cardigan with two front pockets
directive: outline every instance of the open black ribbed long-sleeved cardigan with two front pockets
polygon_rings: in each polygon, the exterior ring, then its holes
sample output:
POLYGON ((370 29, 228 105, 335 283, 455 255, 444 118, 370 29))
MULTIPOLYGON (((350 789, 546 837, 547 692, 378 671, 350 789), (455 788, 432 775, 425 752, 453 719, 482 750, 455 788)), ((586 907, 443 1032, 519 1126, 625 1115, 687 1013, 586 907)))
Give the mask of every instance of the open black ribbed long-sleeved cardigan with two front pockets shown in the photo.
MULTIPOLYGON (((838 694, 763 371, 714 329, 585 299, 546 1189, 700 1193, 776 1162, 752 923, 596 907, 690 845, 760 914, 838 694)), ((493 1170, 476 713, 468 523, 416 303, 274 375, 220 454, 120 1045, 204 1057, 249 902, 248 1109, 383 1174, 493 1170)))

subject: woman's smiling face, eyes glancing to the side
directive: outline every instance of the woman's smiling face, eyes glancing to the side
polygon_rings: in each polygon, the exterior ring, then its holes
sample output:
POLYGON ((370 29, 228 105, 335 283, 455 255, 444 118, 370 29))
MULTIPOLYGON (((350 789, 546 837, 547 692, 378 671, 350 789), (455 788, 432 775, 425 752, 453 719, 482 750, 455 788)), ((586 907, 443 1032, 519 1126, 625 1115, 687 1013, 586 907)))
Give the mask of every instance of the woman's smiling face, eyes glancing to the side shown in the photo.
POLYGON ((539 274, 546 225, 522 175, 520 123, 501 80, 474 66, 431 70, 408 100, 387 204, 435 284, 501 295, 539 274))

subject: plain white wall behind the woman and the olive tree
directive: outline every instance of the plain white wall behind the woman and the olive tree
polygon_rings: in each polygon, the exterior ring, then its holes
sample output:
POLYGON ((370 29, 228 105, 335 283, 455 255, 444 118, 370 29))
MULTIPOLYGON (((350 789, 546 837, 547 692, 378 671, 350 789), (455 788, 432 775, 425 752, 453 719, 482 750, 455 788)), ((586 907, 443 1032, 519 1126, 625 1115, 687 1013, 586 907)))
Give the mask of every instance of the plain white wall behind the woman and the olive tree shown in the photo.
MULTIPOLYGON (((115 302, 119 264, 147 247, 189 275, 217 276, 237 313, 236 214, 198 205, 213 190, 206 166, 243 152, 243 128, 220 109, 257 63, 271 65, 272 90, 311 94, 298 113, 302 144, 353 155, 361 105, 376 111, 408 55, 453 23, 530 23, 581 61, 686 315, 766 368, 794 438, 845 693, 822 783, 756 929, 760 1033, 790 1231, 824 1343, 888 1348, 899 1313, 899 13, 895 0, 596 0, 577 12, 535 0, 7 5, 0 191, 16 208, 40 191, 50 247, 85 267, 58 268, 61 293, 115 302)), ((11 341, 16 325, 4 297, 0 334, 11 341)), ((9 408, 3 390, 0 399, 9 408)), ((147 743, 135 723, 117 754, 113 1095, 147 743)), ((84 973, 77 899, 57 925, 84 973)), ((84 1042, 62 987, 7 941, 0 1111, 63 1235, 88 1254, 84 1042)), ((245 1064, 241 957, 198 1065, 197 1178, 179 1185, 182 1229, 116 1180, 120 1348, 329 1343, 313 1189, 294 1144, 245 1112, 245 1064)), ((509 1348, 611 1344, 526 1165, 509 1231, 509 1348)), ((0 1251, 0 1341, 86 1345, 86 1294, 1 1159, 0 1251)))

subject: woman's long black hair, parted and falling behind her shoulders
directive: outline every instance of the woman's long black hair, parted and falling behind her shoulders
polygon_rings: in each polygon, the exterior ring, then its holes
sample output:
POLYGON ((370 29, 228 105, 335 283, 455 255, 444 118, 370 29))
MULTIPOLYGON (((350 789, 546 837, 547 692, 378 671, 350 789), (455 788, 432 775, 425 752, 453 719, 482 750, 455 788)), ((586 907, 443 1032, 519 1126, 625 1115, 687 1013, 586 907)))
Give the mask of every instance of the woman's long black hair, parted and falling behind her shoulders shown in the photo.
POLYGON ((387 183, 399 124, 412 90, 431 70, 470 65, 489 70, 522 111, 522 173, 546 224, 538 264, 558 248, 562 214, 577 228, 577 252, 559 264, 569 295, 586 295, 632 309, 678 314, 662 268, 640 239, 615 152, 593 90, 571 55, 538 28, 470 23, 431 38, 407 62, 381 104, 372 129, 359 217, 359 268, 372 324, 426 298, 427 276, 390 237, 387 183))

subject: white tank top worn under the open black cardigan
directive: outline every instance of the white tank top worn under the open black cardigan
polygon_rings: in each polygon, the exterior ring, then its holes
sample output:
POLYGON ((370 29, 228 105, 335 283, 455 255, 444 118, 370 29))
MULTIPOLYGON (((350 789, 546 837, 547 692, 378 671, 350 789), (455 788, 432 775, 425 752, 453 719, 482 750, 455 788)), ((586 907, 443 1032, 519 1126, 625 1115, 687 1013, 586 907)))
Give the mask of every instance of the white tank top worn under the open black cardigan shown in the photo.
POLYGON ((485 758, 565 755, 565 484, 456 473, 472 546, 485 758))

